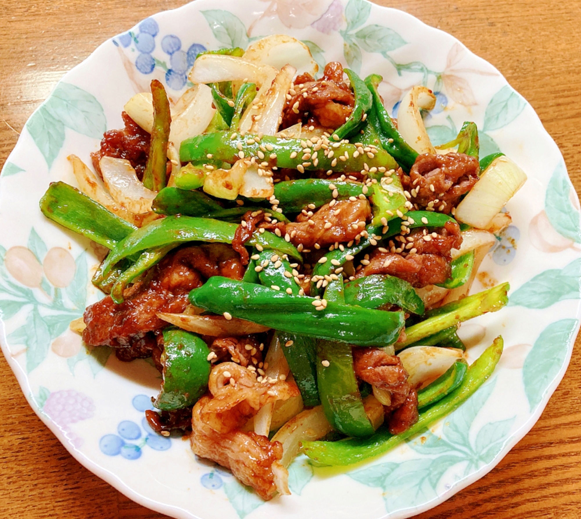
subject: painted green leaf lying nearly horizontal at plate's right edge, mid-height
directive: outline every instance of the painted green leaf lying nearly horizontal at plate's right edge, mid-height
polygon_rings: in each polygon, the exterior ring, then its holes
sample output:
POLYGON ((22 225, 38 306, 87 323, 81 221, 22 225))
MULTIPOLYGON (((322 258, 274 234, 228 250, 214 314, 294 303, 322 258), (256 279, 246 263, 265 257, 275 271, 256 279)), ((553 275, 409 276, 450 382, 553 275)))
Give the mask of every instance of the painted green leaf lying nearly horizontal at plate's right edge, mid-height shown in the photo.
POLYGON ((543 309, 565 299, 581 297, 581 259, 564 269, 550 269, 537 274, 511 294, 509 306, 543 309))

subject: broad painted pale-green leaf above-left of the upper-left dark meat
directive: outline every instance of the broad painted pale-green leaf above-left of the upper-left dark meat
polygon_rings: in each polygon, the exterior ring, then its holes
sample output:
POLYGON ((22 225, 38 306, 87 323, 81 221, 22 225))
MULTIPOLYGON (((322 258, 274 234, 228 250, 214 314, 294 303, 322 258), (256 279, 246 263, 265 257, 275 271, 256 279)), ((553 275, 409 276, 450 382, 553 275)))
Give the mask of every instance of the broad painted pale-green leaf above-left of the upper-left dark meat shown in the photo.
POLYGON ((44 108, 67 128, 94 139, 107 130, 107 119, 94 95, 70 83, 59 83, 44 108))

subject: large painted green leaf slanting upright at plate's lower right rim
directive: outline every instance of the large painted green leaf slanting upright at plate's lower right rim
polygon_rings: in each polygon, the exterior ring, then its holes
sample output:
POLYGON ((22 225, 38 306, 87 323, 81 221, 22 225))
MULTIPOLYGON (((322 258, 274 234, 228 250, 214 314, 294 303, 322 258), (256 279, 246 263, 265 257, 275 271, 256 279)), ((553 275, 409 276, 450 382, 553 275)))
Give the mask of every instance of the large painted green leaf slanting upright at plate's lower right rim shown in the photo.
POLYGON ((522 382, 531 411, 539 405, 549 384, 561 370, 576 327, 576 319, 562 319, 548 325, 526 356, 522 382))

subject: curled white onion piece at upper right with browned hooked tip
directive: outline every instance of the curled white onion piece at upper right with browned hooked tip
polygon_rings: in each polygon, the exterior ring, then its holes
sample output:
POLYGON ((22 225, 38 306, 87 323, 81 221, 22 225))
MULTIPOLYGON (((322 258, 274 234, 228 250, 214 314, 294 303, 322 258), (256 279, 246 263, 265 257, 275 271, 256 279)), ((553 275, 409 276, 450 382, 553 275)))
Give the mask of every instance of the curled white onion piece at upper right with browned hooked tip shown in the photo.
POLYGON ((401 100, 397 110, 397 129, 401 137, 418 153, 432 153, 436 150, 430 142, 428 132, 419 109, 431 110, 436 104, 436 96, 426 87, 412 88, 401 100))

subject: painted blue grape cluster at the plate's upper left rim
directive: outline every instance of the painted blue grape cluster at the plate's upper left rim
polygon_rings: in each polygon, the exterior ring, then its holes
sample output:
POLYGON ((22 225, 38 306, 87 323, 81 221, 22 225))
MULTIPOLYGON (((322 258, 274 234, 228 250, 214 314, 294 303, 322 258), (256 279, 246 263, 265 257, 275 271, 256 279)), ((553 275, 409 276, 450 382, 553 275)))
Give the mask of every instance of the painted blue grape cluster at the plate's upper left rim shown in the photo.
POLYGON ((188 50, 182 50, 182 42, 175 34, 167 34, 162 38, 162 51, 169 56, 169 66, 153 57, 155 50, 155 38, 159 34, 159 25, 153 18, 148 18, 138 26, 137 34, 121 34, 116 43, 127 48, 134 42, 135 49, 139 52, 135 59, 135 67, 142 74, 151 74, 156 66, 166 71, 166 85, 171 90, 181 90, 188 82, 187 72, 191 69, 196 56, 206 51, 206 47, 194 43, 188 50))

